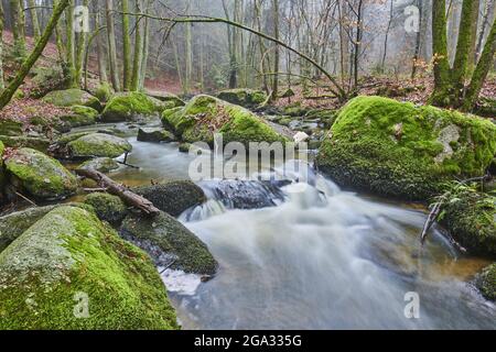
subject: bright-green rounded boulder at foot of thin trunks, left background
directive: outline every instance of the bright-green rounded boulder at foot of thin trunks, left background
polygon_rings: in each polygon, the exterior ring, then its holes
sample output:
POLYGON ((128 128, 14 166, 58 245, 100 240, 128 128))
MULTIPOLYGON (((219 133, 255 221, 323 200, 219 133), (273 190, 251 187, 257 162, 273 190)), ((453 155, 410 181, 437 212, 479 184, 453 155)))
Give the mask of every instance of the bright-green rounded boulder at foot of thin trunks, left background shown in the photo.
POLYGON ((160 100, 138 91, 119 92, 107 102, 101 121, 118 122, 159 114, 165 107, 160 100))

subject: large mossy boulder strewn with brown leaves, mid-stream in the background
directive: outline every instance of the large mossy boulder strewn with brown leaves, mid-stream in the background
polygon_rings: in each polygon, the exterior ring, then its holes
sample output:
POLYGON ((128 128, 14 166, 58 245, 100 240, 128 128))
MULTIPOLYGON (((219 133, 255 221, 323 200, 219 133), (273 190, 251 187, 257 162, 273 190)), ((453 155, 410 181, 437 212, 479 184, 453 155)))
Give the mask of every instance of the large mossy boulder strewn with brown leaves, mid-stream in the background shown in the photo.
POLYGON ((287 141, 255 113, 211 96, 196 96, 182 109, 165 110, 162 123, 187 143, 213 145, 214 133, 222 133, 224 143, 287 141))

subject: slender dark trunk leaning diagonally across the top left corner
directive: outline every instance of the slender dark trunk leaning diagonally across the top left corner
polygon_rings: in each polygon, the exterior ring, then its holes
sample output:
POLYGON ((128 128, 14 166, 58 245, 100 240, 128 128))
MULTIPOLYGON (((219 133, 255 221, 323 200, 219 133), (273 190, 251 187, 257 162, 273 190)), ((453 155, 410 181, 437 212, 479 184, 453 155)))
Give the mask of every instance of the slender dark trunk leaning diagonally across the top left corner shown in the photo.
POLYGON ((53 30, 55 29, 58 19, 61 18, 62 13, 64 12, 65 8, 68 4, 68 0, 60 0, 57 4, 53 9, 52 16, 50 18, 50 21, 40 37, 40 40, 36 42, 36 45, 34 46, 34 50, 31 52, 31 54, 28 56, 28 58, 22 63, 21 68, 17 73, 14 79, 9 84, 9 86, 0 94, 0 109, 3 109, 9 101, 12 99, 13 95, 15 94, 15 90, 18 90, 19 86, 24 81, 25 76, 30 73, 31 67, 33 67, 34 63, 37 61, 40 55, 43 53, 43 50, 46 46, 46 43, 48 43, 50 37, 52 36, 53 30))

